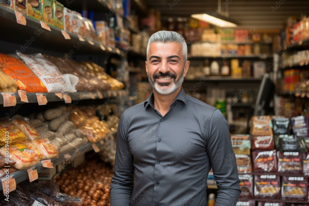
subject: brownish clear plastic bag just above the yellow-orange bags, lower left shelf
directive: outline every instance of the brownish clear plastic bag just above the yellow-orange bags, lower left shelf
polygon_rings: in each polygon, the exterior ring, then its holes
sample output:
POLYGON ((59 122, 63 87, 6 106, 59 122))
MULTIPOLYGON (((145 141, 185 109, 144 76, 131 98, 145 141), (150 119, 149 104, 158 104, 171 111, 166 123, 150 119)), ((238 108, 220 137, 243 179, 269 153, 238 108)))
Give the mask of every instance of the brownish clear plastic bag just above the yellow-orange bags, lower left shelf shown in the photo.
POLYGON ((23 131, 26 136, 34 140, 36 138, 41 138, 40 134, 29 124, 29 122, 20 115, 14 115, 11 119, 11 122, 13 122, 16 127, 18 127, 21 131, 23 131))

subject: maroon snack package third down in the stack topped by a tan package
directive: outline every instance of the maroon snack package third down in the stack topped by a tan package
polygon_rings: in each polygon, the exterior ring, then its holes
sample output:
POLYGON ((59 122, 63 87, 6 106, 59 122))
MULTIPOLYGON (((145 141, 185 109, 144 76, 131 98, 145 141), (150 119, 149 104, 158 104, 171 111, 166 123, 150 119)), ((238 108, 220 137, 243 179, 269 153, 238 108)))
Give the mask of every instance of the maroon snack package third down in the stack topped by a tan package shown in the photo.
POLYGON ((253 151, 253 172, 277 172, 276 150, 253 151))

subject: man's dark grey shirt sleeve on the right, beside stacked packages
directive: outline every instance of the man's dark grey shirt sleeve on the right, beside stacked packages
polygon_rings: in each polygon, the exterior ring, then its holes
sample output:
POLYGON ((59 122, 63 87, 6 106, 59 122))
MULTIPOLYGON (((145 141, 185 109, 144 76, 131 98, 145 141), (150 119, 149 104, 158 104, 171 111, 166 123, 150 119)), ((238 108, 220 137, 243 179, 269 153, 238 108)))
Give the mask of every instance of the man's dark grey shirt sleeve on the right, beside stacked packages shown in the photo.
POLYGON ((219 189, 216 206, 235 206, 241 193, 230 125, 220 110, 215 110, 206 133, 207 154, 219 189))

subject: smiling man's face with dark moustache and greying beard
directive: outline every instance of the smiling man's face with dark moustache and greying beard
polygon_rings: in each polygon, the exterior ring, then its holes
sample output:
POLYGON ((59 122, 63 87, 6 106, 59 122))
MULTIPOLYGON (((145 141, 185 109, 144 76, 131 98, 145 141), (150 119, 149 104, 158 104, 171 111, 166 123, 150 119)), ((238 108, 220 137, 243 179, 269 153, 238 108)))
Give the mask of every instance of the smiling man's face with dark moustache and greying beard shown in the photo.
POLYGON ((187 75, 190 62, 184 63, 179 43, 151 43, 146 61, 148 80, 161 95, 175 92, 187 75))

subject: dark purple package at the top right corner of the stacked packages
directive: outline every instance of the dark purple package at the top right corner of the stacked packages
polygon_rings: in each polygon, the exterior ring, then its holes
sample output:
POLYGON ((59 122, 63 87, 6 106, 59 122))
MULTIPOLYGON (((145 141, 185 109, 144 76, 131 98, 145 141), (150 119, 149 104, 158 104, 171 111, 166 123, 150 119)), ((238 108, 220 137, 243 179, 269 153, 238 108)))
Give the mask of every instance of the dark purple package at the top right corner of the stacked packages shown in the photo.
POLYGON ((293 134, 296 137, 309 137, 309 123, 307 116, 296 116, 291 118, 293 134))

